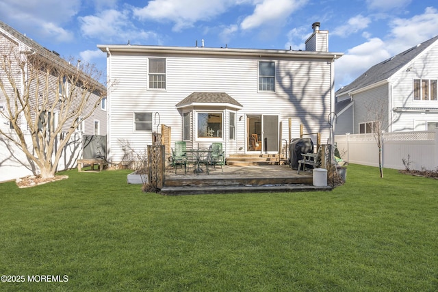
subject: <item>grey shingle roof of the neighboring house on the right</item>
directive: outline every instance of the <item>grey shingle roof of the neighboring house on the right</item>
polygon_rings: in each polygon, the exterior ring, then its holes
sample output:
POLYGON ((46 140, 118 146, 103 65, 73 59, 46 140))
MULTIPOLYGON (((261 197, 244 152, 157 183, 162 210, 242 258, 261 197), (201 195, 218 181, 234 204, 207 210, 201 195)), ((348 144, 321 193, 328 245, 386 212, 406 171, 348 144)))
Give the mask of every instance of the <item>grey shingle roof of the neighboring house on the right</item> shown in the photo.
POLYGON ((372 85, 379 81, 383 81, 388 79, 392 75, 394 75, 400 68, 411 62, 417 55, 422 53, 427 47, 433 44, 438 40, 438 36, 431 38, 430 40, 426 40, 426 42, 422 42, 421 44, 417 44, 417 46, 408 49, 394 57, 390 57, 385 61, 378 63, 368 69, 361 76, 357 77, 355 81, 344 86, 343 88, 337 90, 336 95, 342 94, 344 92, 349 92, 351 90, 358 90, 360 88, 364 88, 368 85, 372 85))

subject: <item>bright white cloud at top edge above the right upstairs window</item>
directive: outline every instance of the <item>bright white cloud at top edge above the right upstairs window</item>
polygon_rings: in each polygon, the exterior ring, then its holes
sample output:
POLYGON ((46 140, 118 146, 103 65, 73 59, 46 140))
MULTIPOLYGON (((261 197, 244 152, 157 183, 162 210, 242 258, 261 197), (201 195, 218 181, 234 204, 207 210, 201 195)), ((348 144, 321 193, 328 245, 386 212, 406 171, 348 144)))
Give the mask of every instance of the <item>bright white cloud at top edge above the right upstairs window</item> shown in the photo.
POLYGON ((254 29, 261 25, 283 23, 292 12, 302 7, 307 0, 263 0, 257 1, 253 14, 244 18, 240 27, 254 29))

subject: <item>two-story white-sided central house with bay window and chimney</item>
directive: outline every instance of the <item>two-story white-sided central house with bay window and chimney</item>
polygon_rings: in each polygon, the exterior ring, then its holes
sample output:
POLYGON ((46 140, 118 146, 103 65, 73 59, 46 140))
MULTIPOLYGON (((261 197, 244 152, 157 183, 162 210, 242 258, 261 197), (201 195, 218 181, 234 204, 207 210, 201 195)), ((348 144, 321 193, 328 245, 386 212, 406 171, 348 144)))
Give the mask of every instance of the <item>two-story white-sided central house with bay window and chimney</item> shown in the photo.
POLYGON ((342 53, 329 53, 328 31, 319 27, 306 51, 211 48, 204 40, 201 47, 98 45, 111 86, 107 159, 120 162, 125 142, 138 150, 152 144, 159 124, 171 127, 172 146, 222 142, 226 155, 279 152, 289 121, 292 137, 302 124, 329 143, 334 61, 342 53))

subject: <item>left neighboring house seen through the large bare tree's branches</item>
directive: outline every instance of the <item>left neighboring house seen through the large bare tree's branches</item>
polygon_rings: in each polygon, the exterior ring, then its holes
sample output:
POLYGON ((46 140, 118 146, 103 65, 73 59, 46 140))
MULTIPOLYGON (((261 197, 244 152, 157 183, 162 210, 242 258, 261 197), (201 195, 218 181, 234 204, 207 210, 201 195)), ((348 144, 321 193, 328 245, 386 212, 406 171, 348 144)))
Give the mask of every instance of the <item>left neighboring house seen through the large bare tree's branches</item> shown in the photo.
MULTIPOLYGON (((53 118, 53 124, 60 124, 60 117, 62 114, 60 113, 62 107, 60 103, 62 100, 66 101, 67 98, 63 96, 68 96, 68 94, 73 93, 76 94, 77 97, 73 97, 73 105, 69 107, 69 109, 73 109, 73 107, 77 107, 77 101, 81 98, 81 94, 83 92, 87 92, 84 88, 93 88, 91 93, 91 97, 89 100, 90 106, 86 106, 83 111, 84 116, 90 113, 93 104, 99 101, 99 94, 96 92, 105 92, 106 88, 104 85, 99 83, 94 79, 90 79, 90 77, 86 76, 81 72, 77 67, 70 65, 65 59, 62 59, 58 53, 55 51, 50 51, 42 47, 40 44, 27 38, 27 36, 20 34, 18 31, 6 25, 5 23, 0 21, 0 53, 5 56, 5 58, 10 57, 12 60, 9 68, 16 68, 16 70, 12 70, 12 79, 16 82, 16 92, 20 96, 29 96, 29 102, 23 102, 25 105, 29 105, 27 112, 31 113, 30 116, 35 118, 40 113, 39 119, 40 124, 42 122, 47 122, 50 124, 53 118), (36 83, 32 83, 29 94, 23 94, 25 92, 25 82, 24 78, 28 78, 31 73, 40 73, 40 75, 44 75, 43 70, 32 70, 31 64, 29 64, 29 56, 39 57, 41 61, 40 64, 47 64, 47 68, 51 68, 52 71, 55 71, 53 68, 60 68, 58 72, 67 72, 65 76, 76 76, 79 77, 79 81, 77 83, 69 83, 68 79, 65 78, 64 82, 59 82, 59 76, 56 76, 55 72, 51 71, 51 75, 49 76, 49 82, 46 84, 41 78, 40 86, 37 89, 36 83), (18 62, 24 64, 23 72, 18 66, 18 62), (43 63, 44 62, 44 63, 43 63), (78 71, 79 70, 79 71, 78 71), (14 75, 15 74, 15 75, 14 75), (86 86, 83 84, 92 83, 92 86, 86 86), (62 84, 61 84, 62 83, 62 84), (76 84, 76 85, 73 85, 76 84), (80 86, 79 86, 80 85, 80 86), (57 92, 57 88, 59 88, 59 92, 57 92), (38 90, 38 92, 37 92, 38 90), (65 90, 65 91, 62 91, 65 90), (47 92, 45 94, 44 92, 47 92), (44 94, 43 94, 44 93, 44 94), (64 94, 64 95, 63 95, 64 94), (36 104, 36 96, 48 96, 49 103, 44 105, 36 104), (58 101, 55 103, 55 101, 58 101)), ((3 57, 2 57, 3 59, 3 57)), ((1 67, 0 67, 1 68, 1 67)), ((44 65, 39 66, 38 68, 46 68, 44 65)), ((23 105, 18 102, 18 99, 14 99, 14 88, 11 85, 10 81, 8 81, 8 76, 5 74, 8 70, 0 69, 0 77, 3 81, 3 88, 5 89, 6 94, 11 96, 10 105, 12 108, 12 112, 19 113, 21 109, 23 109, 23 105), (17 107, 18 110, 14 108, 17 107)), ((60 74, 60 73, 58 73, 60 74)), ((36 75, 36 74, 35 74, 36 75)), ((78 80, 78 79, 77 79, 78 80)), ((33 145, 31 142, 30 135, 30 127, 27 124, 27 120, 21 111, 21 114, 16 119, 16 122, 11 122, 10 116, 8 114, 8 104, 6 95, 3 90, 0 90, 0 131, 5 133, 5 135, 10 135, 10 137, 17 137, 16 132, 14 130, 14 124, 18 125, 18 127, 23 131, 24 140, 27 141, 27 145, 33 145)), ((87 94, 88 95, 88 94, 87 94)), ((64 114, 64 116, 66 116, 64 114)), ((81 118, 81 117, 79 117, 81 118)), ((14 118, 12 120, 15 120, 14 118)), ((70 118, 69 123, 62 124, 62 131, 65 133, 68 131, 70 125, 72 124, 73 118, 70 118)), ((39 127, 39 125, 38 125, 39 127)), ((64 156, 62 157, 62 161, 58 164, 57 170, 64 170, 66 168, 74 168, 76 166, 76 158, 80 158, 82 142, 82 135, 106 135, 107 132, 107 111, 106 111, 106 98, 101 101, 101 105, 92 111, 92 116, 84 119, 77 129, 75 129, 76 133, 75 137, 70 139, 70 143, 68 147, 64 148, 64 156), (73 142, 72 142, 73 141, 73 142), (68 149, 67 149, 68 148, 68 149)), ((15 139, 15 138, 14 138, 15 139)), ((16 138, 16 140, 19 140, 16 138)), ((30 146, 29 146, 30 147, 30 146)), ((23 177, 29 174, 36 174, 38 172, 38 168, 34 161, 30 161, 28 157, 21 151, 18 146, 12 142, 12 139, 7 139, 4 135, 0 134, 0 181, 7 181, 14 178, 23 177)))

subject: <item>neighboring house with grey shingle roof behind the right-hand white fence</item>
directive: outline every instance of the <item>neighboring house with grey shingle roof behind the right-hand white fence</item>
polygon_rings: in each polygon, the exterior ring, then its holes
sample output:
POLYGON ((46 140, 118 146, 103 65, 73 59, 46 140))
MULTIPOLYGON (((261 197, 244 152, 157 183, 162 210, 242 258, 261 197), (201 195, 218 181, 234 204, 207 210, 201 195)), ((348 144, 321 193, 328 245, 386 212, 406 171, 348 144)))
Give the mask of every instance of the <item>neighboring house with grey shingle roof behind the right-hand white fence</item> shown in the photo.
POLYGON ((372 66, 337 90, 336 134, 372 133, 376 117, 387 132, 438 126, 438 36, 372 66), (383 114, 377 115, 381 111, 383 114))

